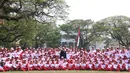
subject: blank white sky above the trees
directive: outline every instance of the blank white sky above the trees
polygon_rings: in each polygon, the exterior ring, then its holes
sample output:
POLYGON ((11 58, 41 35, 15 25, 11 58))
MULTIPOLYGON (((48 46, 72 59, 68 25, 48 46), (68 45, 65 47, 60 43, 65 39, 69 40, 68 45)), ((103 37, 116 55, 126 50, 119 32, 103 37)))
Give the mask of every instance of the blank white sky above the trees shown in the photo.
POLYGON ((115 15, 130 17, 130 0, 65 0, 69 7, 69 20, 101 20, 115 15))

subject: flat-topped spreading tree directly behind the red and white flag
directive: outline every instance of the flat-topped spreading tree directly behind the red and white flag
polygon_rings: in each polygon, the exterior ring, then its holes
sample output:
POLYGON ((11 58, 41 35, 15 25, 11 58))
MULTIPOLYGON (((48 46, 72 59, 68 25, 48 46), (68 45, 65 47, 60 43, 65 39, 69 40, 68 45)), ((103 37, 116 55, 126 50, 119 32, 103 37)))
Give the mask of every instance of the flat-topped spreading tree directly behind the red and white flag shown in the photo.
MULTIPOLYGON (((61 25, 61 30, 71 34, 77 33, 78 27, 81 29, 81 47, 88 48, 90 43, 96 39, 96 30, 93 28, 93 21, 88 20, 72 20, 67 24, 61 25)), ((76 36, 75 36, 76 38, 76 36)))

